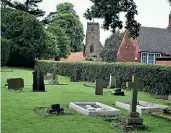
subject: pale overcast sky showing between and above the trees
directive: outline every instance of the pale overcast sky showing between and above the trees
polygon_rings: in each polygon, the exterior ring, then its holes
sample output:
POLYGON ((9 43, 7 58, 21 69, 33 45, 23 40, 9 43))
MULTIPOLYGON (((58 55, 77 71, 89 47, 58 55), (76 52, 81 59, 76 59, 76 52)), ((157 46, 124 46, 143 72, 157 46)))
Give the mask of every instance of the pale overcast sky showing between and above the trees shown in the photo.
MULTIPOLYGON (((143 26, 147 27, 159 27, 166 28, 168 26, 169 13, 171 7, 169 6, 168 0, 134 0, 138 6, 138 16, 136 19, 143 26)), ((47 12, 55 11, 56 5, 63 2, 71 2, 75 5, 75 10, 80 16, 80 20, 84 26, 84 33, 86 33, 87 20, 83 18, 83 13, 89 8, 92 3, 89 0, 43 0, 39 7, 47 12)), ((124 14, 121 14, 121 20, 125 20, 124 14)), ((102 20, 95 20, 102 24, 102 20)), ((100 40, 102 44, 107 37, 110 36, 111 32, 100 30, 100 40)))

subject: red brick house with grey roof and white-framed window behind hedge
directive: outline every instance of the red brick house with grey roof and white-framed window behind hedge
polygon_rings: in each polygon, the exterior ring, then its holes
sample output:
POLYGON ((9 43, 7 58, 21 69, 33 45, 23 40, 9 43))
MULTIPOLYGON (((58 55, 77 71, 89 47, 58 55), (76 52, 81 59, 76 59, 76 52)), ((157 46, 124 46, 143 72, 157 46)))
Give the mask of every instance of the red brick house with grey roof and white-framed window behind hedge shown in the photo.
MULTIPOLYGON (((121 62, 156 63, 156 58, 171 57, 171 14, 167 28, 140 27, 136 39, 128 38, 125 31, 118 49, 117 59, 121 62)), ((162 58, 161 58, 162 59, 162 58)), ((163 60, 163 59, 162 59, 163 60)), ((158 58, 160 61, 160 58, 158 58)), ((171 60, 167 60, 170 64, 171 60)))

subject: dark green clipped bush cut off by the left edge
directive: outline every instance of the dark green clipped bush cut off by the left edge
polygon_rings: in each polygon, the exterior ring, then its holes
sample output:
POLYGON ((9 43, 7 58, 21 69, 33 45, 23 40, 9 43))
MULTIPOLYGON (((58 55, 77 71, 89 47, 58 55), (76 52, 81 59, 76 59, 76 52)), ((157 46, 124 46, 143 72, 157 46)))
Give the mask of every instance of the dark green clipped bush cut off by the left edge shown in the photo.
POLYGON ((10 41, 1 37, 1 66, 5 66, 8 62, 10 54, 10 41))

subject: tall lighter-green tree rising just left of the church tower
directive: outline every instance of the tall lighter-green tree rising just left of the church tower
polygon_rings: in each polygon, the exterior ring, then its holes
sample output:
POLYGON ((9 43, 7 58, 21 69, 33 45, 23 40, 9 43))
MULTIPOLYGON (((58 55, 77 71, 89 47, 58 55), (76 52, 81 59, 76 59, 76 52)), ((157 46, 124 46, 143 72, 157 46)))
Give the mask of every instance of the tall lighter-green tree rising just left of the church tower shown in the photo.
POLYGON ((49 26, 59 26, 64 29, 67 37, 70 38, 70 47, 72 52, 82 51, 82 42, 84 39, 83 25, 79 20, 74 6, 71 3, 61 3, 57 5, 57 10, 53 16, 48 16, 49 26))

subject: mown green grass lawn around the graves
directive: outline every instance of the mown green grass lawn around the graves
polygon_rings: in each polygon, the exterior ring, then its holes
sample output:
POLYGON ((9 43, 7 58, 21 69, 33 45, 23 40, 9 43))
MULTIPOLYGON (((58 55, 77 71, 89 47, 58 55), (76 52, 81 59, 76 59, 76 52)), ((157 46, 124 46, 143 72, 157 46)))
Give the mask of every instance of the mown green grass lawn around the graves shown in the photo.
MULTIPOLYGON (((10 69, 10 68, 2 68, 10 69)), ((46 86, 47 92, 32 92, 32 70, 12 68, 14 72, 2 72, 2 133, 120 133, 103 117, 88 117, 68 109, 71 101, 98 101, 114 106, 117 100, 130 100, 130 91, 126 96, 112 96, 109 89, 104 90, 103 96, 94 95, 94 89, 84 87, 85 82, 72 83, 69 78, 59 76, 60 83, 68 86, 46 86), (25 88, 21 92, 10 91, 4 87, 7 78, 24 78, 25 88), (65 111, 73 115, 41 117, 34 111, 34 107, 50 106, 60 103, 65 111)), ((139 100, 167 105, 168 101, 154 99, 150 95, 139 92, 139 100)), ((127 113, 121 110, 121 113, 127 113)), ((147 131, 138 133, 171 133, 171 122, 167 120, 143 115, 147 131)))

